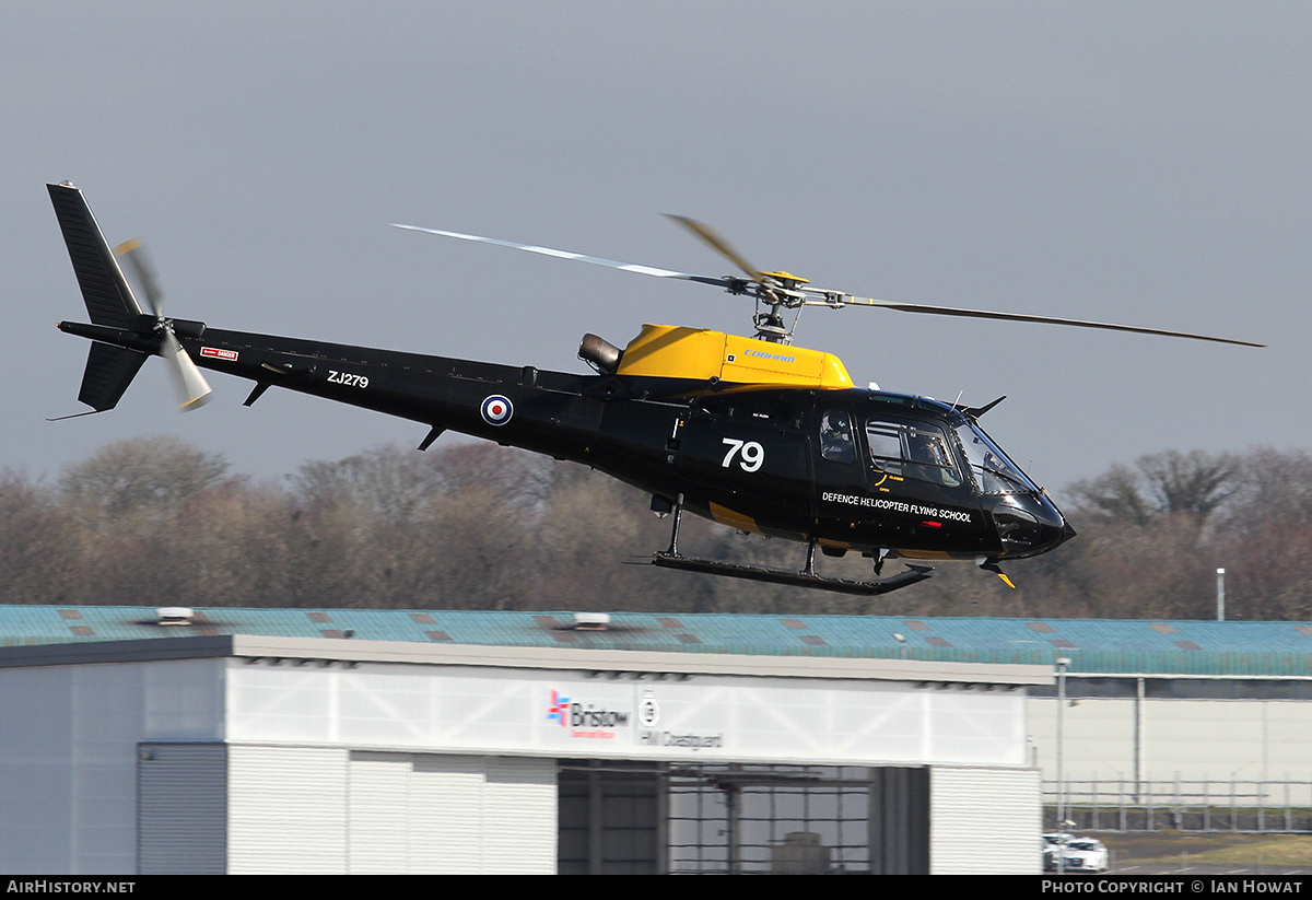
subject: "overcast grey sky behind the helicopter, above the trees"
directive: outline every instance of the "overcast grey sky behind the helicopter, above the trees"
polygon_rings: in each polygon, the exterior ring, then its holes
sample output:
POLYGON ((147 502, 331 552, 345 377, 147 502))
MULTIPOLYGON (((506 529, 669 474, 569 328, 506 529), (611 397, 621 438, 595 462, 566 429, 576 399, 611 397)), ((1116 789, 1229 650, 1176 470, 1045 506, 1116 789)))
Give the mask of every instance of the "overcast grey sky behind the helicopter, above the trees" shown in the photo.
POLYGON ((1305 449, 1309 46, 1307 3, 5 4, 0 464, 167 433, 277 478, 425 432, 243 408, 222 375, 180 415, 157 361, 113 412, 45 421, 84 408, 66 178, 214 327, 568 371, 585 331, 749 331, 711 287, 387 227, 727 274, 680 213, 823 287, 1271 345, 802 317, 858 383, 1009 395, 984 425, 1056 491, 1170 447, 1305 449))

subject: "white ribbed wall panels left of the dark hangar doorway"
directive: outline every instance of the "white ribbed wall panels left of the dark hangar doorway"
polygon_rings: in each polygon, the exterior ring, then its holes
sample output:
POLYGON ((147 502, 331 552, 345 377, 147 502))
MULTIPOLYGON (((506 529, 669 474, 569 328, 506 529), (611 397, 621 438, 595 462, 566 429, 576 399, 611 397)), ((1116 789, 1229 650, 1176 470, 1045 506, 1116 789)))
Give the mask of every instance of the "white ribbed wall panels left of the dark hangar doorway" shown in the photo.
POLYGON ((556 870, 554 760, 230 748, 230 874, 556 870))

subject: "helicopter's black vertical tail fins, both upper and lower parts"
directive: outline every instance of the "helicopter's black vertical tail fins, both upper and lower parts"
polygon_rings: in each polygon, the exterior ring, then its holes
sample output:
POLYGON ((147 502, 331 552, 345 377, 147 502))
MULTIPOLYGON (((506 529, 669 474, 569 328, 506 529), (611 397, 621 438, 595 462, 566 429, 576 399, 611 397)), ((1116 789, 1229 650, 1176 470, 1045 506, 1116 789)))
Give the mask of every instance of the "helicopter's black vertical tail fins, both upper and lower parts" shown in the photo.
MULTIPOLYGON (((46 186, 92 323, 130 328, 143 315, 142 306, 127 286, 87 199, 68 182, 46 186)), ((92 344, 77 399, 96 412, 113 409, 144 362, 146 354, 138 350, 92 344)))

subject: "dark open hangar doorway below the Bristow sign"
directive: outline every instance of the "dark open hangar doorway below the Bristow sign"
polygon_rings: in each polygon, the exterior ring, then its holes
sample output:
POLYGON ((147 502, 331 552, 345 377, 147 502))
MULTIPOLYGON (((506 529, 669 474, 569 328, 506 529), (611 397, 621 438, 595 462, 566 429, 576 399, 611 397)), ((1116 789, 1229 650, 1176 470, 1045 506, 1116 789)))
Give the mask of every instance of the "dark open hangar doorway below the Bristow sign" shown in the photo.
POLYGON ((562 874, 929 871, 924 767, 562 760, 562 874))

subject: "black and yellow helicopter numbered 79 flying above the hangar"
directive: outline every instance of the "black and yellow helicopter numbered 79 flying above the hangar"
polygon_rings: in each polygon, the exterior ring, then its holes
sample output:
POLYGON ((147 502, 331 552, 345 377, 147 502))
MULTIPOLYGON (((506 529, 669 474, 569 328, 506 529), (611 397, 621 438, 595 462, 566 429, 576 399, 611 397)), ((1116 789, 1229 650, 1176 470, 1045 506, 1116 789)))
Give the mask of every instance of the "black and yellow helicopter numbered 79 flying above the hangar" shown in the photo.
POLYGON ((451 430, 605 472, 651 495, 651 509, 672 521, 665 550, 626 563, 854 596, 922 581, 933 571, 924 563, 934 560, 968 560, 1014 588, 1002 563, 1046 554, 1075 537, 1075 529, 980 426, 1005 398, 968 407, 858 387, 836 356, 792 345, 806 307, 882 307, 1262 346, 819 290, 799 276, 756 269, 708 226, 684 216, 670 218, 740 274, 707 277, 396 227, 720 287, 754 302, 754 336, 647 324, 618 348, 585 335, 579 357, 592 371, 572 374, 224 331, 165 316, 142 248, 129 241, 115 253, 77 188, 47 188, 91 317, 58 325, 92 341, 77 395, 91 411, 75 415, 112 409, 146 358, 159 356, 169 363, 182 409, 210 399, 201 374, 207 369, 255 382, 244 405, 279 387, 425 425, 420 450, 451 430), (133 270, 146 307, 119 260, 133 270), (741 533, 798 542, 806 547, 804 564, 796 569, 684 555, 678 539, 685 512, 741 533), (817 551, 861 554, 871 560, 874 577, 823 575, 817 551), (905 568, 884 577, 890 559, 904 560, 905 568))

